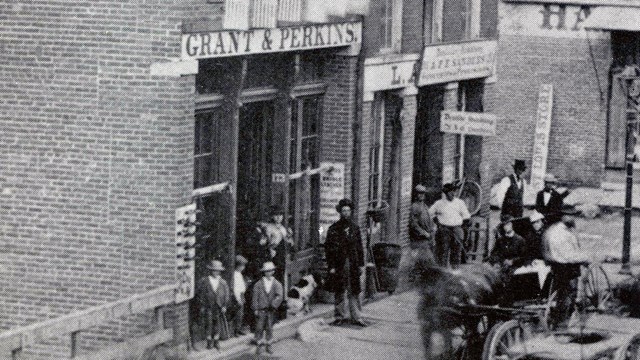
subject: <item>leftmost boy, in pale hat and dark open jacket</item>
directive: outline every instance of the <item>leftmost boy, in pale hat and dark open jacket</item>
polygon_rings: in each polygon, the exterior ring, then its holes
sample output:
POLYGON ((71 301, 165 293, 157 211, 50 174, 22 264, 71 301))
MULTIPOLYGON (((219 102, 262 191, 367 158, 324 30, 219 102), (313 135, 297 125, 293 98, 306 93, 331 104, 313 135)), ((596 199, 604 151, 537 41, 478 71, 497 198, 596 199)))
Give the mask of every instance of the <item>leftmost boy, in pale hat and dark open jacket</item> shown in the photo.
POLYGON ((226 326, 225 313, 229 304, 229 285, 220 276, 224 271, 222 262, 213 260, 207 264, 211 272, 196 284, 196 298, 200 307, 200 316, 205 321, 207 349, 220 350, 220 333, 226 326))

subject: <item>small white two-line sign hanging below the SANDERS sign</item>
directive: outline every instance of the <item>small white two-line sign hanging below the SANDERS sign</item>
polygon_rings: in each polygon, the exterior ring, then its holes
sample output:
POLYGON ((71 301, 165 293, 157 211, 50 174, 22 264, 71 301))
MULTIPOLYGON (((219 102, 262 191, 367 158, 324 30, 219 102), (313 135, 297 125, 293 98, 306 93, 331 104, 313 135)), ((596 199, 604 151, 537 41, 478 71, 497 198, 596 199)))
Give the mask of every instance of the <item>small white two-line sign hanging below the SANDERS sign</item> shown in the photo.
POLYGON ((450 134, 495 136, 497 117, 493 114, 442 111, 440 131, 450 134))

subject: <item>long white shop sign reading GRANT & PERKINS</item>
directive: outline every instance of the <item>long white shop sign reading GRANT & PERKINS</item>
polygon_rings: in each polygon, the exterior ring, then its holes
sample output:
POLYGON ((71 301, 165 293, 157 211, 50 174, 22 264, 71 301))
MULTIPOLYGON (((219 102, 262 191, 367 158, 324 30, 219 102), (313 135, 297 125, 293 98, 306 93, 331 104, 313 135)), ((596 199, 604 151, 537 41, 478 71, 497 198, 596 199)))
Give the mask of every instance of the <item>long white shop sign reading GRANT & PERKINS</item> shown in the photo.
POLYGON ((309 50, 359 44, 362 23, 311 24, 182 35, 182 59, 309 50))

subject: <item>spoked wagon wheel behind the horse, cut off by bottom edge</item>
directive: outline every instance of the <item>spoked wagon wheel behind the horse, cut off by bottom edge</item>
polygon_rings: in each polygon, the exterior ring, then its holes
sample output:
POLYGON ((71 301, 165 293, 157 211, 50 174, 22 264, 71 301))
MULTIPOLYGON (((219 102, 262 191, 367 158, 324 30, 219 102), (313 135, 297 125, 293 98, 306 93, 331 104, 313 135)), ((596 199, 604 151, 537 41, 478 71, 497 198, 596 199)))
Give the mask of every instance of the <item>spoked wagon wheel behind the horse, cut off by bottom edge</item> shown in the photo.
POLYGON ((525 342, 532 337, 531 328, 527 324, 521 324, 517 320, 497 323, 484 342, 482 360, 520 359, 527 353, 525 342), (509 353, 514 352, 517 357, 510 357, 509 353))

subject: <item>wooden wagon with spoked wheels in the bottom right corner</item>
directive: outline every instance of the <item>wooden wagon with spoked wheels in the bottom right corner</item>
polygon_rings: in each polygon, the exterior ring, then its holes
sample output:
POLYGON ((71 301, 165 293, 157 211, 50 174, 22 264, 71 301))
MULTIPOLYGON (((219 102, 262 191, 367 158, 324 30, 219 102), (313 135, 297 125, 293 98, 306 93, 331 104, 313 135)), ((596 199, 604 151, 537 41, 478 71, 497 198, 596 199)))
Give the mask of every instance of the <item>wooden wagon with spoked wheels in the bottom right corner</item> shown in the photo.
POLYGON ((519 310, 513 312, 513 318, 492 325, 485 337, 482 360, 640 359, 640 319, 607 314, 612 313, 612 292, 599 264, 590 264, 579 278, 580 311, 574 312, 566 330, 549 330, 548 315, 556 302, 553 277, 546 275, 540 284, 547 295, 538 304, 518 307, 514 303, 519 310), (522 316, 522 312, 531 311, 537 311, 536 315, 522 316))

